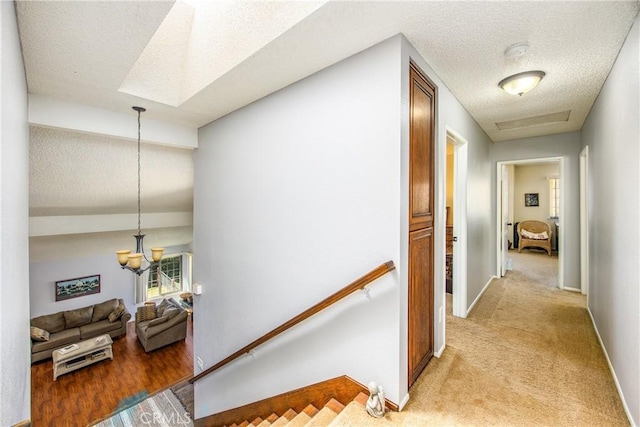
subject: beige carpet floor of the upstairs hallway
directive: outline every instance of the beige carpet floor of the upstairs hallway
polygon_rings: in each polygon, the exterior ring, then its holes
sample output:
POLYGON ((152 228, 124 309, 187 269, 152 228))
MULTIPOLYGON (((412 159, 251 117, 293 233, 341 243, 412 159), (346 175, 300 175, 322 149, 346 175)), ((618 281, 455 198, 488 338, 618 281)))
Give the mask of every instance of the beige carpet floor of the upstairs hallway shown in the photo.
POLYGON ((452 317, 449 308, 446 350, 412 387, 405 410, 386 420, 629 425, 586 298, 557 289, 557 257, 515 251, 510 256, 513 270, 492 282, 467 319, 452 317))

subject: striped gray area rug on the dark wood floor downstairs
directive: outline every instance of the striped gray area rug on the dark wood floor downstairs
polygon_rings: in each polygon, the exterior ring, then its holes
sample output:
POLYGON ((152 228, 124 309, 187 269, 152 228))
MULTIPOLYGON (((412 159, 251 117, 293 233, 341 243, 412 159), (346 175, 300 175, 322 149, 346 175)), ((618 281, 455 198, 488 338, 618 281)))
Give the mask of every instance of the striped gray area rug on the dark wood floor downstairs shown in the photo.
POLYGON ((193 421, 176 395, 169 389, 94 424, 97 427, 189 427, 193 421))

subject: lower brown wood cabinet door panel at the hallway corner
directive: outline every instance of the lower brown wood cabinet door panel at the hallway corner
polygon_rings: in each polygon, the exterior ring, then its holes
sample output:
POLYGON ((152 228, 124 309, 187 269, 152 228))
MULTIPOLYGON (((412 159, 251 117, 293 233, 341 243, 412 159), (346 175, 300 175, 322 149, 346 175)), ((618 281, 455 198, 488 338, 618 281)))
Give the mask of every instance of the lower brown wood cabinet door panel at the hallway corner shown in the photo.
POLYGON ((409 387, 433 356, 433 229, 409 233, 409 387))

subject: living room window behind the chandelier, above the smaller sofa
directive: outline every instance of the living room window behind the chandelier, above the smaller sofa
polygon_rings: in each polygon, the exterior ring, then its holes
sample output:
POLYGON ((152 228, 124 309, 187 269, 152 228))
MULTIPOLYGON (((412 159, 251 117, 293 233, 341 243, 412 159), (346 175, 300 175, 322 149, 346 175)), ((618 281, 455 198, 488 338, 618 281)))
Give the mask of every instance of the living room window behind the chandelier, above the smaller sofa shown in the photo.
POLYGON ((190 283, 191 254, 165 255, 149 269, 147 299, 188 291, 190 283))

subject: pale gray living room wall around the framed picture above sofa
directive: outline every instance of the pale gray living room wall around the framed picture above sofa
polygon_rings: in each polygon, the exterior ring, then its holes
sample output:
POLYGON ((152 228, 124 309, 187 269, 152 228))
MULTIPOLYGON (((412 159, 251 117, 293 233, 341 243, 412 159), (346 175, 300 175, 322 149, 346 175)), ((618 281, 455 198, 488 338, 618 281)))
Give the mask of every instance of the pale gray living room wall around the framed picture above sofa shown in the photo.
MULTIPOLYGON (((99 240, 102 234, 87 235, 88 239, 99 240)), ((151 233, 149 233, 149 236, 151 233)), ((66 236, 70 246, 78 236, 66 236)), ((129 245, 135 247, 135 239, 129 236, 129 245)), ((135 275, 128 270, 120 268, 113 252, 90 256, 65 257, 61 253, 60 258, 50 259, 29 264, 30 279, 30 314, 29 317, 43 314, 56 313, 63 310, 71 310, 98 304, 111 298, 122 298, 125 306, 133 315, 135 312, 135 275), (64 301, 56 301, 55 282, 77 277, 100 275, 100 293, 72 298, 64 301)), ((173 246, 165 248, 165 254, 180 253, 189 250, 188 246, 173 246)), ((64 249, 61 249, 64 251, 64 249)))

